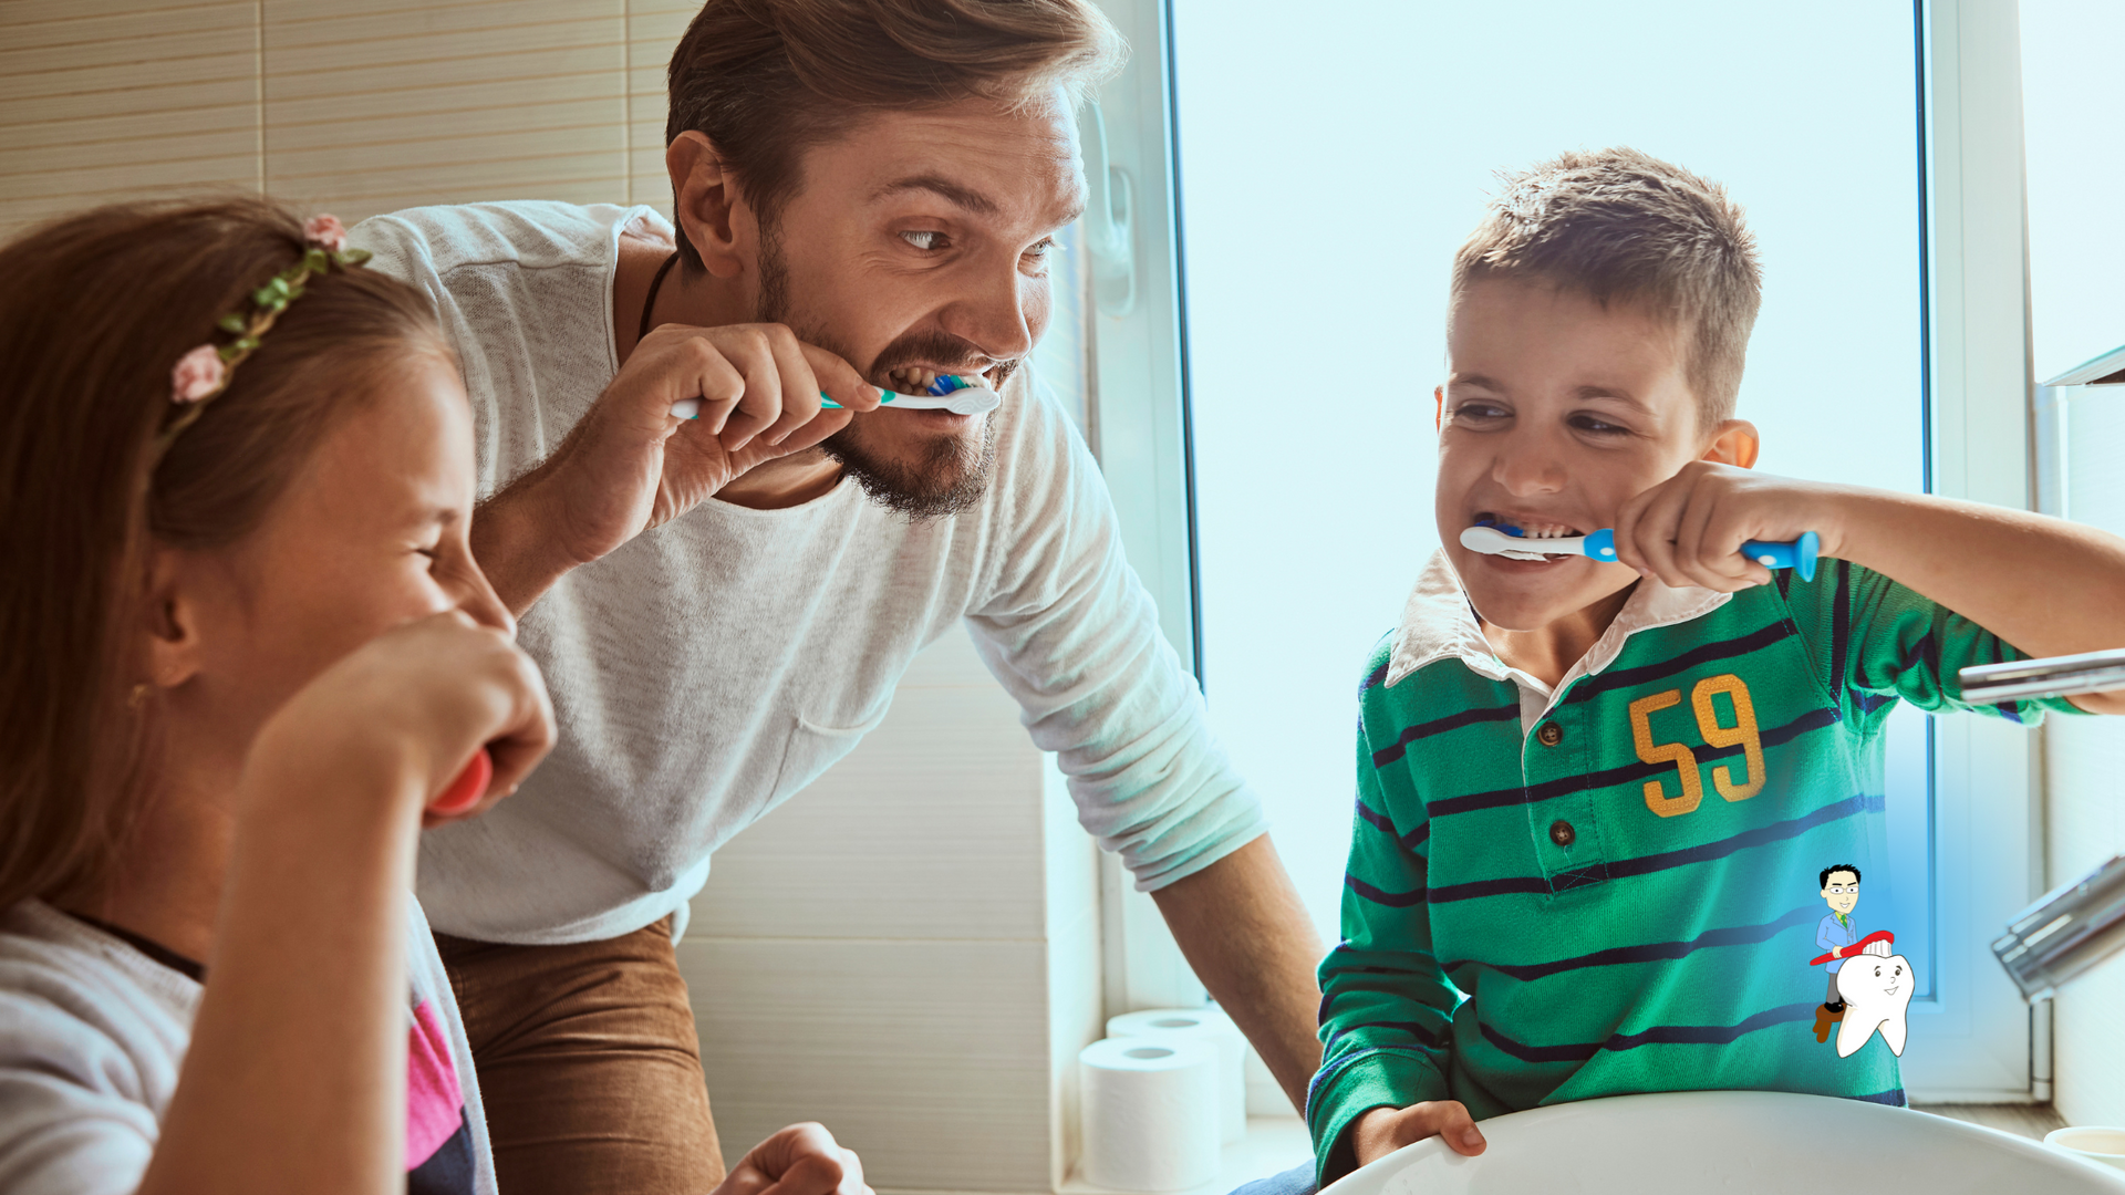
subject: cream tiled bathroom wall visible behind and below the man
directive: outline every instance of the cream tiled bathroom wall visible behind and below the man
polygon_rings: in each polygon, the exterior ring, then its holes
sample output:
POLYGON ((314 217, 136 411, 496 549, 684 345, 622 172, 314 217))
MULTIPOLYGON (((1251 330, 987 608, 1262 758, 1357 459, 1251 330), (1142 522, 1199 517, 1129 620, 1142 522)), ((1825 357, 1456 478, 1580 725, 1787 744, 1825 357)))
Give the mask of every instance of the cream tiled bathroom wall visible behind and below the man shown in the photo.
MULTIPOLYGON (((663 66, 693 11, 0 0, 0 238, 172 189, 348 223, 506 198, 669 213, 663 66)), ((1043 344, 1052 385, 1084 378, 1071 332, 1043 344)), ((727 1152, 818 1118, 880 1189, 1052 1191, 1101 1036, 1096 904, 1090 840, 954 632, 695 902, 680 961, 727 1152)))

